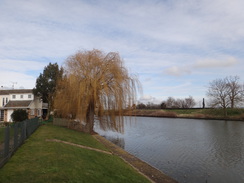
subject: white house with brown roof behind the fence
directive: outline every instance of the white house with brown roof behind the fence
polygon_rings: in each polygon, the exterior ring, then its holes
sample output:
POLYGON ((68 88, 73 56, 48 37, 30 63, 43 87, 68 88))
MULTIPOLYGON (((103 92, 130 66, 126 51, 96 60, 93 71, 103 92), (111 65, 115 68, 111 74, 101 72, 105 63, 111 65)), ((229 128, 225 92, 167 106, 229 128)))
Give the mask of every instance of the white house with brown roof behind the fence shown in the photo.
POLYGON ((34 96, 32 89, 0 90, 0 121, 11 122, 16 109, 25 109, 29 118, 47 114, 47 104, 34 96))

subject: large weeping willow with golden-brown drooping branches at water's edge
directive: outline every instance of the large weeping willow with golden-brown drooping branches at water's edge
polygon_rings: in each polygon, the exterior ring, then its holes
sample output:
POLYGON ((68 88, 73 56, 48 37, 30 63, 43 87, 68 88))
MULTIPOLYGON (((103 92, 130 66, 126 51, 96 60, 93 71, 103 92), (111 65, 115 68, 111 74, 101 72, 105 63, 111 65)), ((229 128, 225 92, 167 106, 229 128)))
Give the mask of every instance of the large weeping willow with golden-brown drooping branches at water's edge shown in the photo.
POLYGON ((122 112, 134 104, 140 84, 119 54, 79 51, 67 58, 64 71, 55 97, 57 112, 79 119, 88 133, 93 133, 95 116, 103 129, 122 131, 122 112))

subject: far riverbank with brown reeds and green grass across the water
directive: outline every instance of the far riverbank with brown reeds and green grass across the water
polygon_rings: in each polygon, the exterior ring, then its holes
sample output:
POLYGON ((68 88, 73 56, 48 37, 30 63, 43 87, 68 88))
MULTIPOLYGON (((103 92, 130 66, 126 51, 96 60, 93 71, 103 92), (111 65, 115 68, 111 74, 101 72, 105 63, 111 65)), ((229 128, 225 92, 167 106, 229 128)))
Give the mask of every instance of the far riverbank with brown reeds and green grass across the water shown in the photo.
POLYGON ((167 117, 189 119, 211 119, 244 121, 244 109, 227 109, 224 116, 223 109, 136 109, 125 112, 124 115, 143 117, 167 117))

